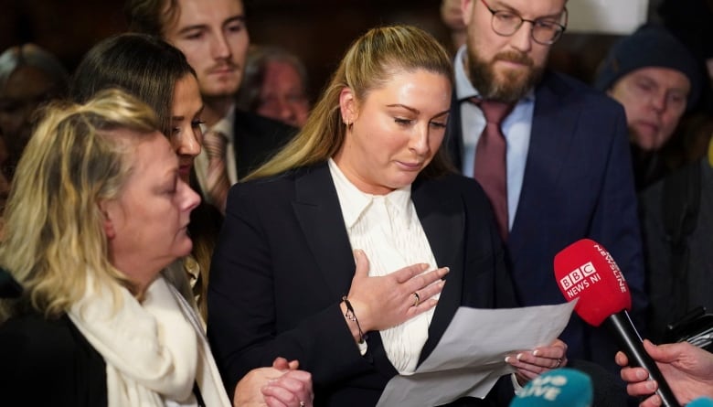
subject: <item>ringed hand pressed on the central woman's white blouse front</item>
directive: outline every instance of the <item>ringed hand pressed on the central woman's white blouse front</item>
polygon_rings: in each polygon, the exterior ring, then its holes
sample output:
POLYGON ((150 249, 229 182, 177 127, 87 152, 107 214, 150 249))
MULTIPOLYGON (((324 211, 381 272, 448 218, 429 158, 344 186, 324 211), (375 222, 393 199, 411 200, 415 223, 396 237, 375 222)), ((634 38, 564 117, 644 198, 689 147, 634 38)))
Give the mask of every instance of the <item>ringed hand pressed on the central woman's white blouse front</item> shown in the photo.
MULTIPOLYGON (((395 327, 438 304, 433 296, 441 293, 448 267, 423 273, 428 264, 417 263, 388 275, 369 277, 367 254, 356 250, 354 257, 357 270, 346 298, 364 332, 395 327)), ((346 312, 346 305, 342 304, 342 310, 346 312)))

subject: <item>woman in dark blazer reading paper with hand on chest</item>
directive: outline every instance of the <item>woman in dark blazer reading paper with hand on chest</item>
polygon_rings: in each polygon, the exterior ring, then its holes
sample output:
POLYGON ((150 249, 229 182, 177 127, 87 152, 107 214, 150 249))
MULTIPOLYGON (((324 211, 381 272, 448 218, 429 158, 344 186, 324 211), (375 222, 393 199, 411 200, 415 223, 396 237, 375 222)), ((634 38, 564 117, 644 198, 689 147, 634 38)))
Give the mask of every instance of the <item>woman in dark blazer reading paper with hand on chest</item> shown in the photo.
MULTIPOLYGON (((303 131, 230 190, 208 284, 229 391, 283 355, 313 374, 314 405, 375 405, 459 306, 516 306, 487 198, 441 153, 451 77, 431 35, 370 30, 303 131)), ((565 348, 512 363, 524 382, 565 348)))

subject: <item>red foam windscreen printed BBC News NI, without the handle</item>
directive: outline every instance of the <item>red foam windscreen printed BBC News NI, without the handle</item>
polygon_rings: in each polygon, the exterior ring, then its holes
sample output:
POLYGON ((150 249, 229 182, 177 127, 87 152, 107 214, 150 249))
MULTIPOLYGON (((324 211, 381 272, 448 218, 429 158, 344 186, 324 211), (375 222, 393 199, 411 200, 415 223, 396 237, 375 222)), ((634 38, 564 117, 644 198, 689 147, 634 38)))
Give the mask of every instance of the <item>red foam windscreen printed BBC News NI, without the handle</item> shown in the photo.
POLYGON ((632 295, 622 271, 596 241, 575 241, 557 253, 555 280, 567 301, 580 299, 574 310, 594 327, 608 316, 632 308, 632 295))

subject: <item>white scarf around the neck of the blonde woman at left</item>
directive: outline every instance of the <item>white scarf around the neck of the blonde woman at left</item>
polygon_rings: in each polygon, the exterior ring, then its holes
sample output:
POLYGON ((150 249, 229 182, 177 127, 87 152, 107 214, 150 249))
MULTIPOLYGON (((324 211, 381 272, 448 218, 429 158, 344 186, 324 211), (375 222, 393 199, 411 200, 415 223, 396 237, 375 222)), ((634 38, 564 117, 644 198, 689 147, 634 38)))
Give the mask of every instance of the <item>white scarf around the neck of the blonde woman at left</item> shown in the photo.
POLYGON ((108 406, 197 406, 195 381, 207 406, 229 406, 197 316, 176 289, 159 277, 141 304, 121 292, 114 313, 110 290, 88 278, 68 313, 106 362, 108 406))

